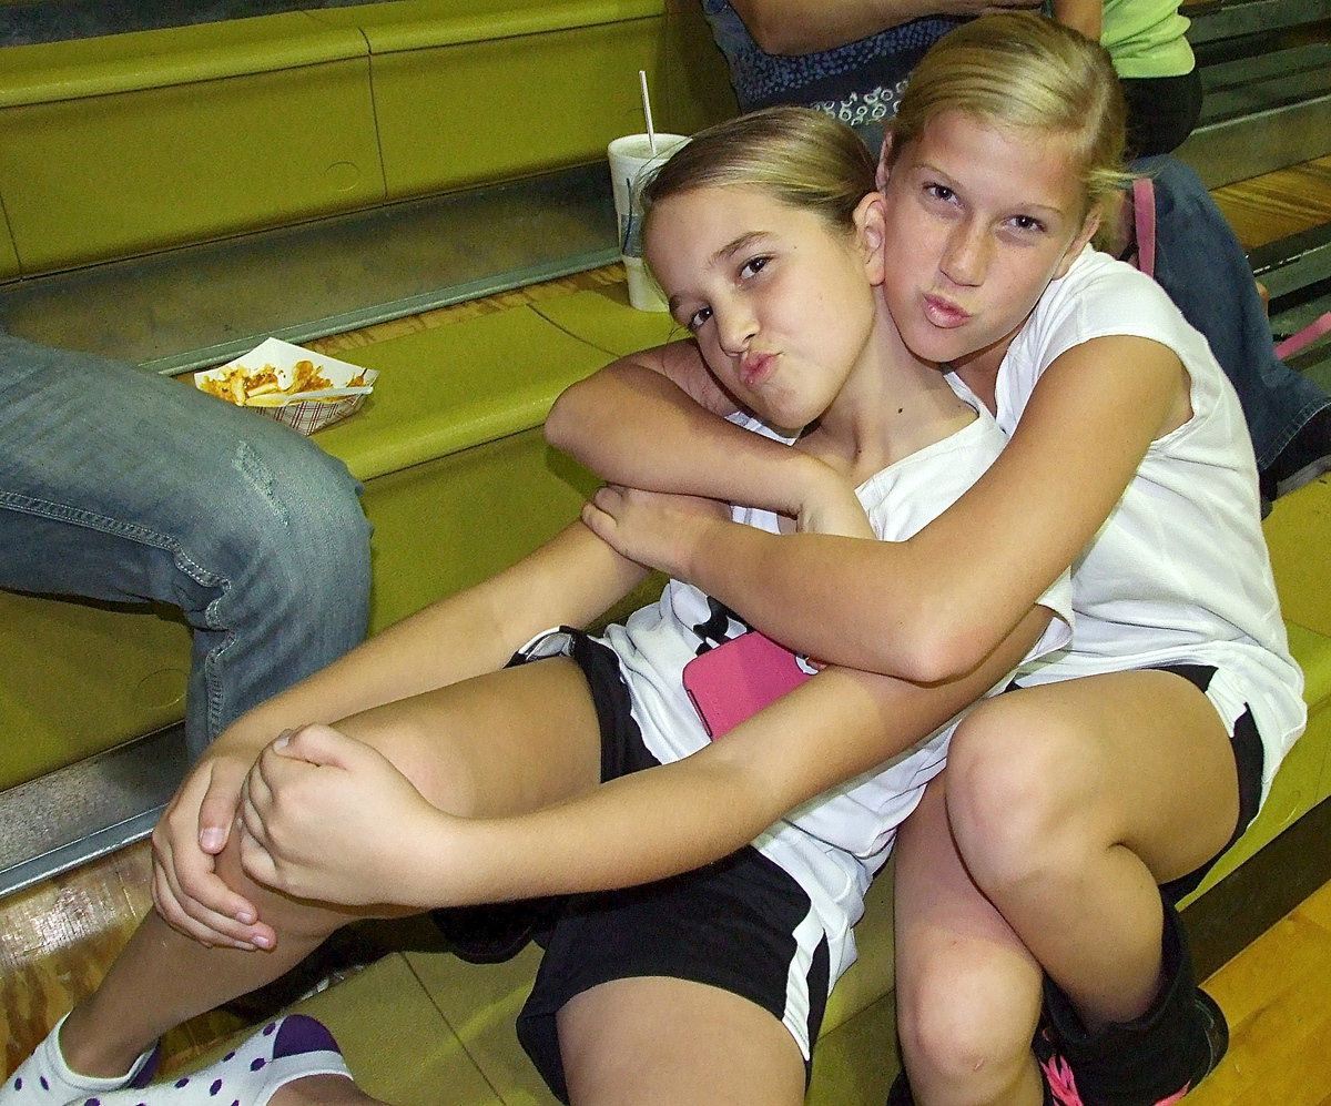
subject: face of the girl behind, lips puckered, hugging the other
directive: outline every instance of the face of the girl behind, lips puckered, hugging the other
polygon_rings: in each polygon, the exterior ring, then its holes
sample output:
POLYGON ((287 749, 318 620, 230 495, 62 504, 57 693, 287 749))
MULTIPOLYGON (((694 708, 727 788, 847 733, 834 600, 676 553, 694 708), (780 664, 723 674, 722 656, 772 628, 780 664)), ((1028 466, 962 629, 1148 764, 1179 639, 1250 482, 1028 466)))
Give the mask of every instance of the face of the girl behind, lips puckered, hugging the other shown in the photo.
POLYGON ((1082 217, 1070 137, 944 112, 886 173, 884 294, 902 339, 926 361, 997 371, 1098 225, 1082 217))

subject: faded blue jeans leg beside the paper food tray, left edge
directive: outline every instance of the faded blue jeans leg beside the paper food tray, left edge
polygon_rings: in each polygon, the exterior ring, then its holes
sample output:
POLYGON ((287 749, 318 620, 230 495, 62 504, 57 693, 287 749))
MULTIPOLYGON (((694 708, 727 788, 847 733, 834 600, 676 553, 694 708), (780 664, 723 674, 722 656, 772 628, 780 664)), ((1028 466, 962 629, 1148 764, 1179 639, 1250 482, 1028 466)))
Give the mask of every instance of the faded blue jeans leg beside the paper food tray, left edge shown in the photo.
POLYGON ((363 638, 358 492, 254 411, 0 331, 0 587, 178 607, 193 755, 363 638))

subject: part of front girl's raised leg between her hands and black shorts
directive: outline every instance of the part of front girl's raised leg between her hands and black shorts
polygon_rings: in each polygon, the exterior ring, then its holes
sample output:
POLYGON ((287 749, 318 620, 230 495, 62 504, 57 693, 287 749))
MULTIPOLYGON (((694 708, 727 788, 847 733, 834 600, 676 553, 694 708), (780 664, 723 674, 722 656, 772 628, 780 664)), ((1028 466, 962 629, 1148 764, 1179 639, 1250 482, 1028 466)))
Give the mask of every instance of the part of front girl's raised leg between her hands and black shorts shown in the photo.
POLYGON ((563 656, 387 703, 337 728, 455 815, 530 811, 600 783, 596 707, 582 669, 563 656))

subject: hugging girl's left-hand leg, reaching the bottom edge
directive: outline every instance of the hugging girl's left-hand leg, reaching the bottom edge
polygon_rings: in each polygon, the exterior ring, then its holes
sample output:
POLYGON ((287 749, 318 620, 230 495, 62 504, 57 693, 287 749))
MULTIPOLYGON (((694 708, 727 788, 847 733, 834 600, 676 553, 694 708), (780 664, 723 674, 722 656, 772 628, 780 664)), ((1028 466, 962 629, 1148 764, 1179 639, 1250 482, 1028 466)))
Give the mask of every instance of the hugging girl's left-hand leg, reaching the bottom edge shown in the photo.
POLYGON ((961 864, 945 771, 897 834, 897 1030, 921 1106, 1037 1106, 1041 969, 961 864))

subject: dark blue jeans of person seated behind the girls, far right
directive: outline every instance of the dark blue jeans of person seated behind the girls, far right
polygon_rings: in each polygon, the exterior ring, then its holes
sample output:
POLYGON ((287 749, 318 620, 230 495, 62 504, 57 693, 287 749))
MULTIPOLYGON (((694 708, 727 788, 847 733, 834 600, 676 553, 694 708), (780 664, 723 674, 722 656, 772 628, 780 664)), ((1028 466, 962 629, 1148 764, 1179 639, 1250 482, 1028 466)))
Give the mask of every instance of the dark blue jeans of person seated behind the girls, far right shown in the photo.
POLYGON ((1131 168, 1155 182, 1155 279, 1211 343, 1266 468, 1331 395, 1275 355, 1252 269, 1201 177, 1167 156, 1131 168))

